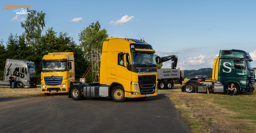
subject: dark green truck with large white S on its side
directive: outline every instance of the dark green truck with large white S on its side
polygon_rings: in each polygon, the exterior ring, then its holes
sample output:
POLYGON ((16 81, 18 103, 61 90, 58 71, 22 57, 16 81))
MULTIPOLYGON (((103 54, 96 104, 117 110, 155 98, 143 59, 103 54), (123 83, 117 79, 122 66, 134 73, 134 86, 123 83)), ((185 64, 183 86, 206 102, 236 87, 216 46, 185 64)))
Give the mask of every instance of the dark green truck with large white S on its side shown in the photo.
POLYGON ((228 86, 234 84, 234 95, 244 92, 254 92, 255 72, 252 58, 246 51, 232 49, 220 50, 214 60, 212 79, 191 78, 182 92, 226 93, 228 86))

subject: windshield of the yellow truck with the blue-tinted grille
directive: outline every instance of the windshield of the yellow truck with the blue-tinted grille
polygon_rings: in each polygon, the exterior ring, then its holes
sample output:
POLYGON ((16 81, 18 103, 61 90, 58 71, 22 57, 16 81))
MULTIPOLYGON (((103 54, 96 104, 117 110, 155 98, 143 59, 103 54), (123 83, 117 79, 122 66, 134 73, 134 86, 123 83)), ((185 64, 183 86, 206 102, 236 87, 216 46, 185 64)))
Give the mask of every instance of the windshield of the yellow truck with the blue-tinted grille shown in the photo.
POLYGON ((45 62, 42 64, 42 70, 66 70, 66 62, 45 62))

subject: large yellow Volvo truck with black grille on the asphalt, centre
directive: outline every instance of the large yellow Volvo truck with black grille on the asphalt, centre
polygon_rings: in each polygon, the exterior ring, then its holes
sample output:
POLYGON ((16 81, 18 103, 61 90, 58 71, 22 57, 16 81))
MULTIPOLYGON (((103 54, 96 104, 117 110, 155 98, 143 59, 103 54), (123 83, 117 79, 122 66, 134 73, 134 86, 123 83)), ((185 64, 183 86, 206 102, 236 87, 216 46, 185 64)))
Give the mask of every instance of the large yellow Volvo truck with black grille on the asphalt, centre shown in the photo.
POLYGON ((157 93, 155 51, 145 41, 107 38, 102 47, 100 83, 74 84, 69 98, 112 98, 124 102, 127 98, 143 100, 157 93))

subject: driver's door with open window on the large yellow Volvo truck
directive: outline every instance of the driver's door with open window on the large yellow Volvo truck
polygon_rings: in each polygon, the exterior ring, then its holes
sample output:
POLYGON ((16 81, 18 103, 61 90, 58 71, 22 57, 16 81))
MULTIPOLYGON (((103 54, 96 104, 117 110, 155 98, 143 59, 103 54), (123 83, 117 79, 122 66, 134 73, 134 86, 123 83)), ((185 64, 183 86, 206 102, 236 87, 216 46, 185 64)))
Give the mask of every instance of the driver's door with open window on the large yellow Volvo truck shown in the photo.
POLYGON ((128 53, 118 53, 116 81, 124 86, 125 91, 130 91, 132 72, 130 71, 130 56, 128 53))

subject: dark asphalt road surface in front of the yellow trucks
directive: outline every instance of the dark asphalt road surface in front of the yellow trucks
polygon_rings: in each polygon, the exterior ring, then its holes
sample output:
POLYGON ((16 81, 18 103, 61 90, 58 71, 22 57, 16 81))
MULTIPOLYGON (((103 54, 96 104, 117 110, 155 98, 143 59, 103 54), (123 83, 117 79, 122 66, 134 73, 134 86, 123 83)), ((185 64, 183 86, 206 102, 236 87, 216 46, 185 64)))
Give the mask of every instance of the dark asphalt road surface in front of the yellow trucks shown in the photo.
POLYGON ((138 101, 67 95, 0 98, 0 132, 190 133, 164 94, 138 101))

